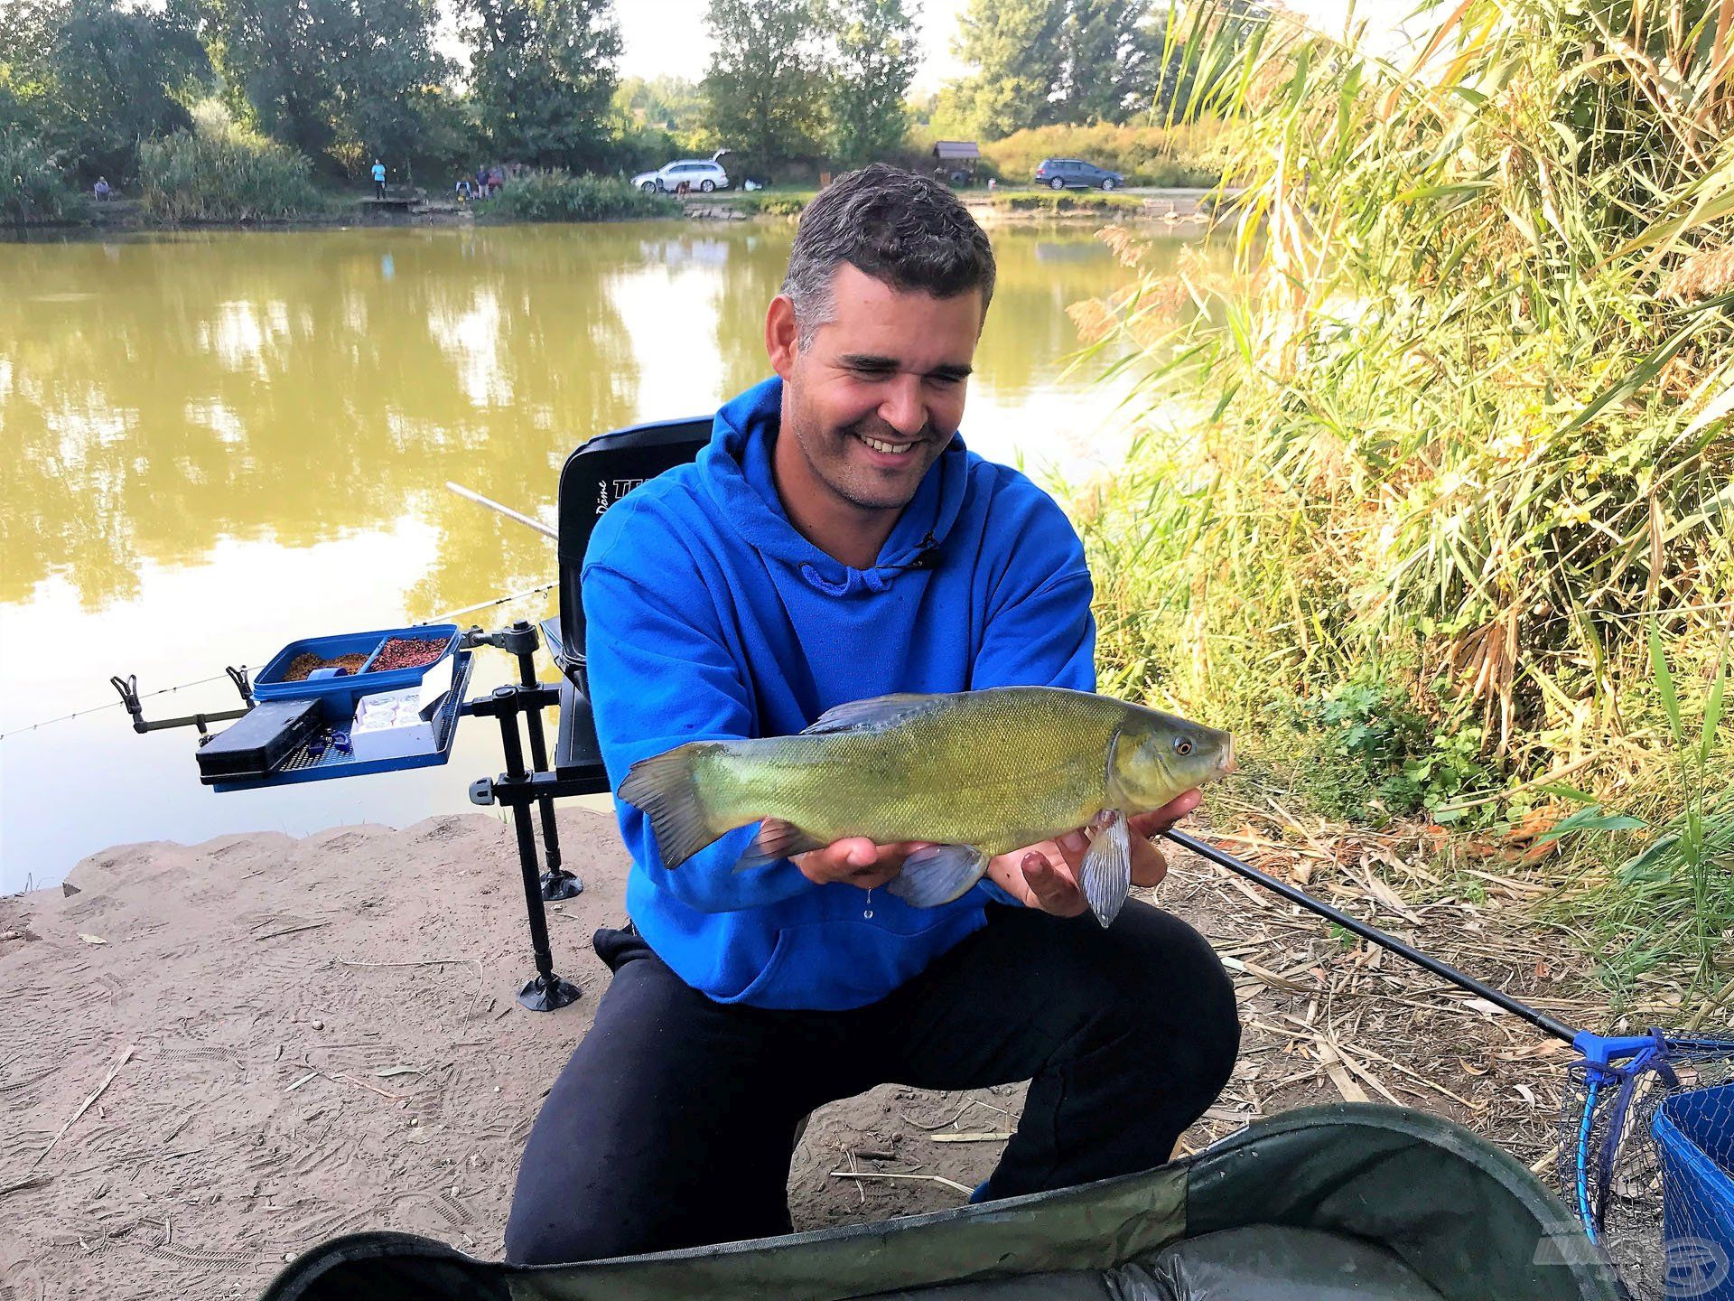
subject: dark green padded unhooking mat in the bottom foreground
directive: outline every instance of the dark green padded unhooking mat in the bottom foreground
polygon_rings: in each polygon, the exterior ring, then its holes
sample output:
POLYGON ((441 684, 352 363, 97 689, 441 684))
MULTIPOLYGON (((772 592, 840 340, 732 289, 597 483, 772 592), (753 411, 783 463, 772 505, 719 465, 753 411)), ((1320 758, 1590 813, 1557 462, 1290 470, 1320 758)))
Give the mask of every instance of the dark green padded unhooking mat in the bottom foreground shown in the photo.
POLYGON ((1467 1129, 1335 1105, 1080 1188, 720 1247, 518 1268, 404 1233, 264 1301, 1620 1301, 1535 1176, 1467 1129))

